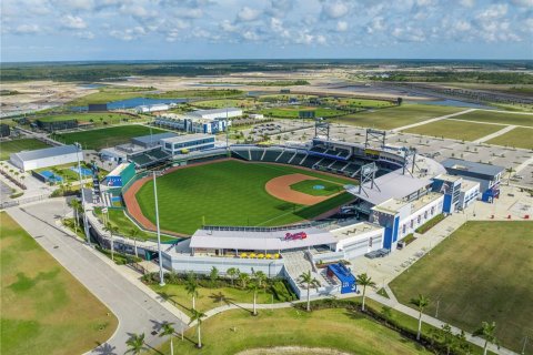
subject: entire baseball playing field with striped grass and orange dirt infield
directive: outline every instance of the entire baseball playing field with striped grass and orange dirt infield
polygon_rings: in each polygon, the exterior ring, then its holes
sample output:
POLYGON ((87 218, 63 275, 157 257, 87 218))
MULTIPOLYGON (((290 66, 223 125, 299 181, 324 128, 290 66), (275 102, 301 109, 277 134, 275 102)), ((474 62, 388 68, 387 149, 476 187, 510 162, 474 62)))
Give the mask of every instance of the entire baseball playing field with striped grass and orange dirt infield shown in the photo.
MULTIPOLYGON (((202 224, 274 226, 301 222, 352 200, 342 186, 354 183, 352 179, 290 165, 237 160, 179 168, 157 180, 160 225, 165 231, 192 234, 202 224), (302 189, 302 181, 338 186, 339 191, 329 195, 305 193, 310 190, 302 189)), ((152 180, 135 182, 124 200, 140 223, 153 227, 152 180)))

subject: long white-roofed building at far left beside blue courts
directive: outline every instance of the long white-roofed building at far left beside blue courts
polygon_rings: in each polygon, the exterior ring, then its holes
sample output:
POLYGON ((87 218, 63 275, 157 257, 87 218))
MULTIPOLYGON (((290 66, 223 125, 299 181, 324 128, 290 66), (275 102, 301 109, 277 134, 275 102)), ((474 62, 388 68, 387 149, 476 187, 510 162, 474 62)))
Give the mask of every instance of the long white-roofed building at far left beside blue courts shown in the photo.
POLYGON ((73 163, 78 161, 78 156, 83 160, 83 152, 76 145, 60 145, 12 153, 9 160, 14 166, 28 171, 73 163))

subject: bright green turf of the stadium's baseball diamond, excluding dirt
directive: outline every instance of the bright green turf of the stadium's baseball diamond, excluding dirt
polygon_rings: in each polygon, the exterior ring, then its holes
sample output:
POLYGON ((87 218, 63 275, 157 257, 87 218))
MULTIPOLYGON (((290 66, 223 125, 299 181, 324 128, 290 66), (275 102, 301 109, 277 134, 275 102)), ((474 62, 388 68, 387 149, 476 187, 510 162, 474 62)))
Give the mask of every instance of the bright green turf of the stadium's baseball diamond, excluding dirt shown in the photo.
MULTIPOLYGON (((158 179, 161 229, 192 234, 202 225, 282 225, 316 216, 351 199, 340 194, 320 204, 298 206, 270 195, 265 183, 276 176, 302 173, 333 183, 353 180, 294 166, 240 161, 214 162, 181 169, 158 179)), ((137 194, 143 214, 154 221, 153 182, 137 194)))

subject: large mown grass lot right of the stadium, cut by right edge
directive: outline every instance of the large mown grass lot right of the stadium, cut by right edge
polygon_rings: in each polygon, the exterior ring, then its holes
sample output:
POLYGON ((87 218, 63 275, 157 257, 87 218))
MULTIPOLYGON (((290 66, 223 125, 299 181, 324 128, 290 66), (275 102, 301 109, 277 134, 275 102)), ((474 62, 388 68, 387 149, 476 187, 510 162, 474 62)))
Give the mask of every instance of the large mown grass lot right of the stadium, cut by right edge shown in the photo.
MULTIPOLYGON (((408 304, 431 298, 425 313, 467 332, 496 322, 502 345, 521 351, 533 336, 533 234, 531 222, 467 222, 398 276, 391 288, 408 304)), ((530 343, 526 354, 533 352, 530 343)))

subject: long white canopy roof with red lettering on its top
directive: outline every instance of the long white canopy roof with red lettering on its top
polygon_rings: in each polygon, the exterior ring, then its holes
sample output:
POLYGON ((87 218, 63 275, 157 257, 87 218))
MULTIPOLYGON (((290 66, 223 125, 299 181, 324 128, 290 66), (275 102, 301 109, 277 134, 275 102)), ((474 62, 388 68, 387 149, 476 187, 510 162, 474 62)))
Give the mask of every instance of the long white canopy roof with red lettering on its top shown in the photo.
POLYGON ((293 230, 243 229, 242 231, 198 230, 191 237, 192 248, 228 248, 250 251, 282 251, 302 248, 313 245, 334 244, 336 239, 328 231, 316 227, 293 230), (286 234, 304 232, 305 239, 285 239, 286 234))

